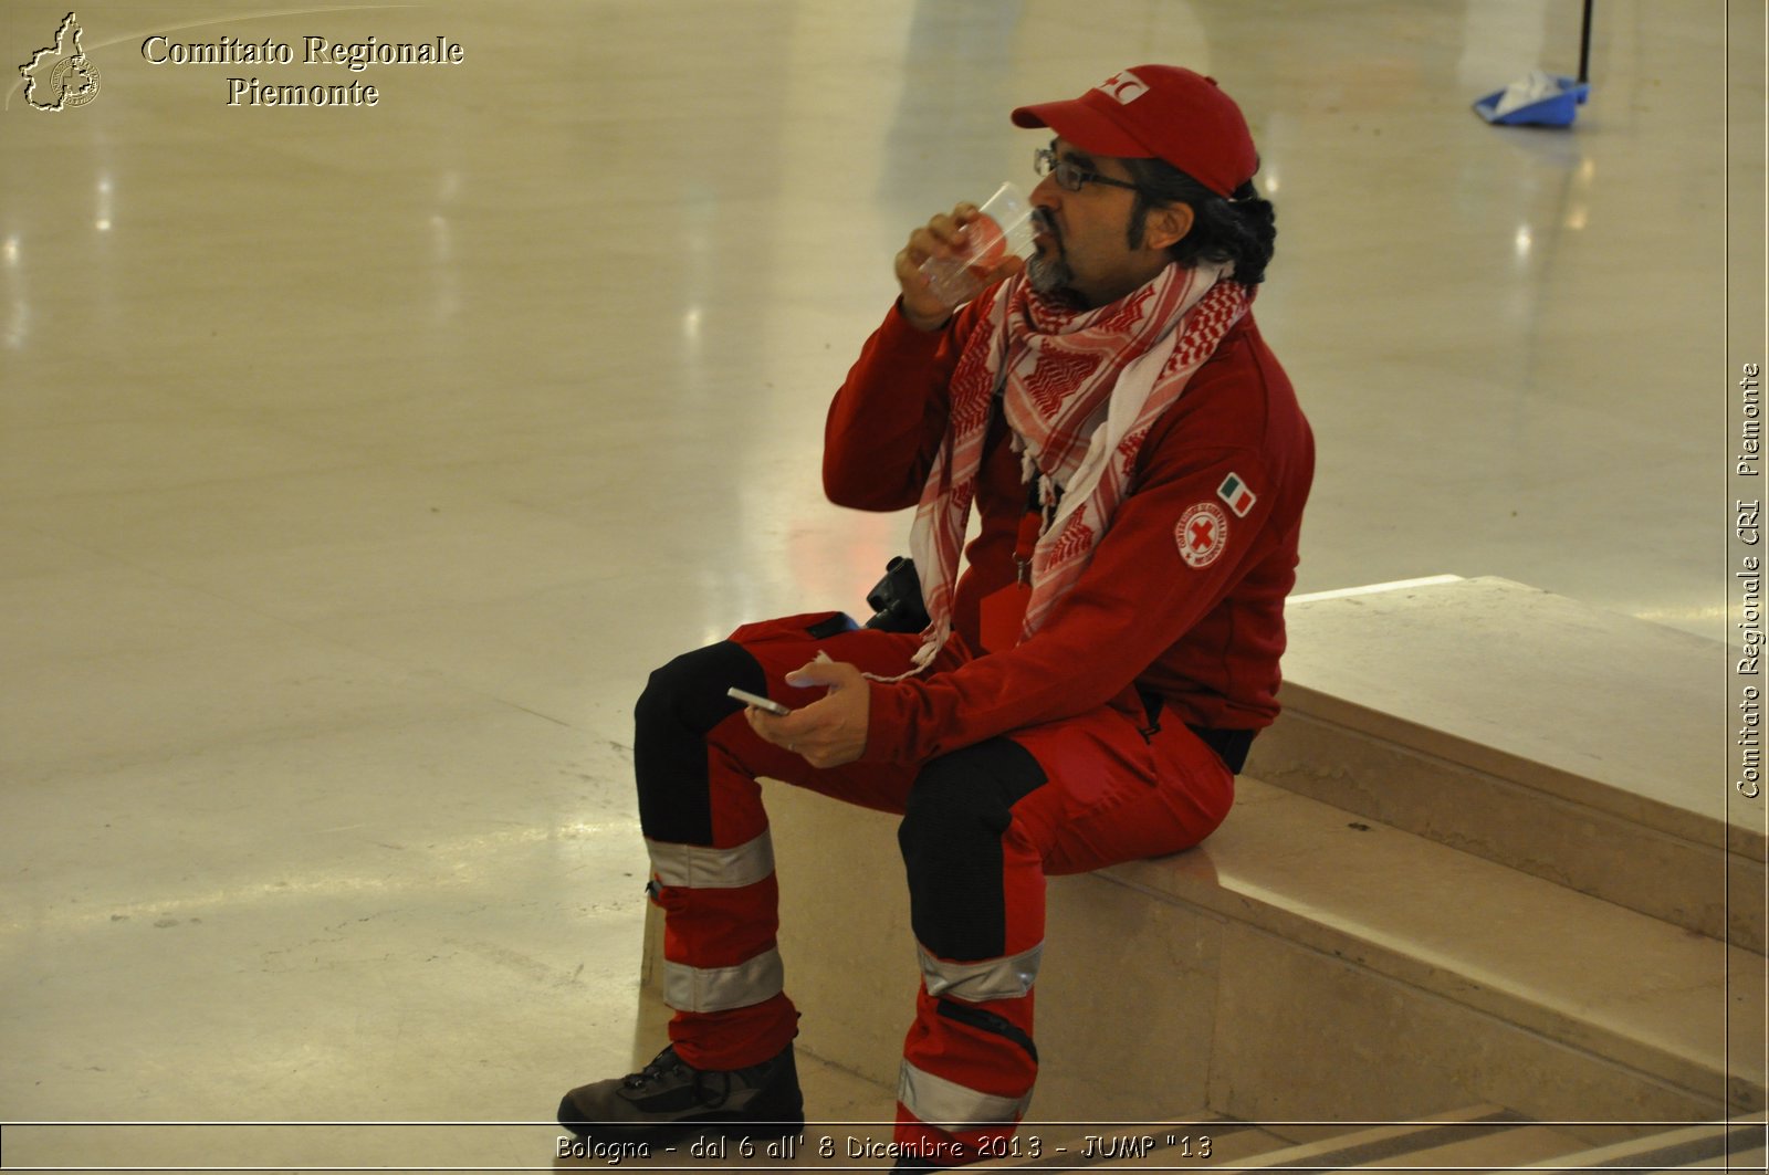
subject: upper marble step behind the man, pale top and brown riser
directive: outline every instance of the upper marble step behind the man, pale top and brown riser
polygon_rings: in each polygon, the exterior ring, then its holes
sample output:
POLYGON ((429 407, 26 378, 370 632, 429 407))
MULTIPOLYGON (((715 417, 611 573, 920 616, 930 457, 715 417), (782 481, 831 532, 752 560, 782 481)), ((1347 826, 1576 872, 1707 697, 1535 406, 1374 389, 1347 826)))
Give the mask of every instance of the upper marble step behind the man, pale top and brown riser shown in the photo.
POLYGON ((1765 805, 1734 786, 1750 680, 1723 644, 1504 579, 1286 616, 1284 713, 1249 773, 1764 950, 1765 805))

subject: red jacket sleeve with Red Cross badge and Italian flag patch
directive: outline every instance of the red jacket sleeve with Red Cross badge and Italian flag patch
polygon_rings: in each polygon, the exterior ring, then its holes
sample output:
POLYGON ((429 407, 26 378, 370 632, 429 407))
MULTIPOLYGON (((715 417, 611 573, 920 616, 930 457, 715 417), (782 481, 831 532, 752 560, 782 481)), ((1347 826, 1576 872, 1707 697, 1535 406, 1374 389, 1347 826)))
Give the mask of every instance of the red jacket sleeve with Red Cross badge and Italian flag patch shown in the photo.
POLYGON ((1281 541, 1265 526, 1275 494, 1245 515, 1219 495, 1231 472, 1268 485, 1256 451, 1145 451, 1145 462, 1141 488, 1028 641, 930 678, 874 683, 867 761, 915 766, 1120 697, 1281 541), (1189 557, 1180 543, 1192 543, 1189 557))

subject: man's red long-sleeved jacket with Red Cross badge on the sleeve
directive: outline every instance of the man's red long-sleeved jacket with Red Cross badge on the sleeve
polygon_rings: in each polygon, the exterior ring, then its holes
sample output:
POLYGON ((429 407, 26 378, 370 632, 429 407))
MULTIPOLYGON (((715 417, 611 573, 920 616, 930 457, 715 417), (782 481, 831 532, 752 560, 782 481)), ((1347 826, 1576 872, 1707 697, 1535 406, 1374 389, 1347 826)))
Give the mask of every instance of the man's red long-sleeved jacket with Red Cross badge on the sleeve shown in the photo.
MULTIPOLYGON (((945 435, 948 380, 971 331, 987 329, 987 303, 969 303, 934 333, 892 310, 867 340, 830 405, 830 501, 886 511, 920 501, 945 435)), ((982 533, 966 547, 953 603, 961 651, 982 648, 978 600, 1014 582, 1026 511, 1021 462, 999 416, 976 488, 982 533)), ((913 766, 1106 703, 1141 717, 1134 687, 1164 699, 1168 722, 1270 724, 1313 476, 1307 419, 1249 313, 1150 430, 1111 529, 1044 625, 1012 649, 874 683, 865 759, 913 766), (1252 494, 1251 504, 1229 478, 1252 494), (1191 559, 1180 547, 1187 518, 1199 543, 1191 559)))

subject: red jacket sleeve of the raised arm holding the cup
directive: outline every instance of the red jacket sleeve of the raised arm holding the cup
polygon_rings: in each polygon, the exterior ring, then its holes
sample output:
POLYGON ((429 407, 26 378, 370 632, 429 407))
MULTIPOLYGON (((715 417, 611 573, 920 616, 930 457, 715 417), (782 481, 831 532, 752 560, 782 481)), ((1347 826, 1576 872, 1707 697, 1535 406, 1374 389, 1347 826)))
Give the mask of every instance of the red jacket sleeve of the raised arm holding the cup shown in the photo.
POLYGON ((922 499, 946 432, 946 386, 982 301, 939 331, 915 329, 892 306, 830 403, 823 490, 831 503, 890 511, 922 499))

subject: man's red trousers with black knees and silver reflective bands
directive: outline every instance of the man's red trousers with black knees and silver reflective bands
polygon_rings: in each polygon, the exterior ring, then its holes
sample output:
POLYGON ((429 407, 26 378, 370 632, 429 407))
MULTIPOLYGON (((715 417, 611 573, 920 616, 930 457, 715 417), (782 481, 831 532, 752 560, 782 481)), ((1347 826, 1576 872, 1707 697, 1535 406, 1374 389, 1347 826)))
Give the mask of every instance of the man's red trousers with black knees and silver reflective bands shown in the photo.
MULTIPOLYGON (((640 697, 633 757, 665 913, 670 1041, 690 1065, 736 1069, 780 1053, 798 1030, 775 952, 757 777, 902 814, 923 982, 904 1041, 897 1141, 957 1166, 1012 1134, 1037 1078, 1044 878, 1198 844, 1228 814, 1233 775, 1178 722, 1146 733, 1106 706, 916 770, 812 768, 757 738, 725 688, 803 706, 821 690, 782 678, 817 651, 899 674, 920 644, 913 634, 833 628, 828 614, 748 625, 656 671, 640 697)), ((966 657, 953 639, 929 672, 966 657)))

